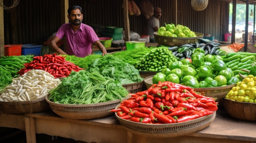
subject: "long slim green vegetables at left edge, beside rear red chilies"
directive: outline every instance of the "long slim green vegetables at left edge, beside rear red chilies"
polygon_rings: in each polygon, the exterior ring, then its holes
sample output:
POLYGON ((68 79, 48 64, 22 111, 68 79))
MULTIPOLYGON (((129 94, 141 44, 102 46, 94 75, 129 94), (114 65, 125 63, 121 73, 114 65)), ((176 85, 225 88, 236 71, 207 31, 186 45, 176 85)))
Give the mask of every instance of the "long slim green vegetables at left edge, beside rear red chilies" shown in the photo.
POLYGON ((0 69, 7 70, 12 77, 18 77, 18 72, 25 66, 23 64, 33 61, 34 55, 1 56, 0 69))

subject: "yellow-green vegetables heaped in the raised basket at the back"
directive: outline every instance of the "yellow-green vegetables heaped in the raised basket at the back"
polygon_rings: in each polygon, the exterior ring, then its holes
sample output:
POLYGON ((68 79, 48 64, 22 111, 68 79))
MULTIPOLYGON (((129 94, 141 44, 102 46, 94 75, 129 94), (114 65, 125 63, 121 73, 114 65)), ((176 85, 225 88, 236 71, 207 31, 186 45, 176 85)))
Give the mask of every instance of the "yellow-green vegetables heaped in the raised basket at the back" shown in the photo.
POLYGON ((195 32, 191 31, 189 27, 181 24, 166 24, 159 27, 157 35, 167 37, 196 37, 195 32))

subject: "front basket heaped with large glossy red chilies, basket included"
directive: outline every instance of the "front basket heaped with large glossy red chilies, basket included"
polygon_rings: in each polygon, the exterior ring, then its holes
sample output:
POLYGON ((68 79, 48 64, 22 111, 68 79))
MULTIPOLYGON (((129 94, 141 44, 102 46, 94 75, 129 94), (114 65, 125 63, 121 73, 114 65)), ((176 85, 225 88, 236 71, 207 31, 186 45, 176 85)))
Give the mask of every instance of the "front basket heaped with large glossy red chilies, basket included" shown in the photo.
POLYGON ((209 126, 217 102, 191 87, 164 81, 121 101, 115 116, 127 130, 143 136, 184 136, 209 126))

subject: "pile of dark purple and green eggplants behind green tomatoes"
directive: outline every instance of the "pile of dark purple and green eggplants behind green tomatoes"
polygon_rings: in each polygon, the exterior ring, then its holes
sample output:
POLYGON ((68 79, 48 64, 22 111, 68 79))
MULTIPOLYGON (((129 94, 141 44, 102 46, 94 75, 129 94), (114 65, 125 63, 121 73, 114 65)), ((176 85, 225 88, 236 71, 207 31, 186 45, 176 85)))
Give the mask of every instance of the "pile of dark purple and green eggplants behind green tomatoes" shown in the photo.
POLYGON ((199 38, 195 43, 184 44, 181 46, 168 47, 177 60, 191 58, 191 55, 196 51, 204 53, 204 55, 226 55, 227 53, 220 49, 222 46, 219 42, 213 42, 208 39, 199 38))

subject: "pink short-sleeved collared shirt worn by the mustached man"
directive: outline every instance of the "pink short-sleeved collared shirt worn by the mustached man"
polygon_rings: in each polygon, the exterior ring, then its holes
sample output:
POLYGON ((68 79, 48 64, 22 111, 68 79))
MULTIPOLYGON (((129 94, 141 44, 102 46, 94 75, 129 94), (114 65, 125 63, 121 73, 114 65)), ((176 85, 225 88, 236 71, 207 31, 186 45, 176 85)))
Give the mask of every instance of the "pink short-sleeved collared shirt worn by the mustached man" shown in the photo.
POLYGON ((81 23, 80 28, 74 33, 71 23, 63 24, 56 35, 59 39, 66 37, 68 55, 85 57, 92 54, 92 44, 99 40, 99 37, 92 27, 81 23))

